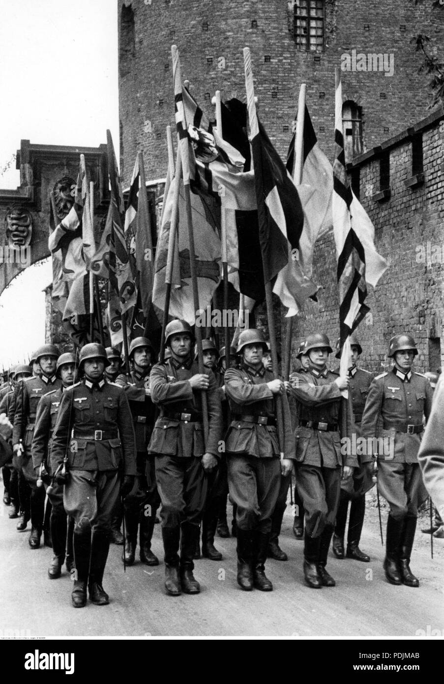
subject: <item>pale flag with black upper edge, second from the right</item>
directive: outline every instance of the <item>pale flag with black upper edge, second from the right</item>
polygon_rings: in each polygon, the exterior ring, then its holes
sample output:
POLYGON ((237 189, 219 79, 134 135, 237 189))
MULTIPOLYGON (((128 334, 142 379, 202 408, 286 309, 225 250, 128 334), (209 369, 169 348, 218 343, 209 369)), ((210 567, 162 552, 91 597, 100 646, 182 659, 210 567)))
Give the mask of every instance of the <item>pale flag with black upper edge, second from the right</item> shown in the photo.
MULTIPOLYGON (((287 169, 294 179, 293 133, 288 148, 287 169)), ((333 167, 324 155, 314 132, 311 118, 305 106, 303 130, 303 169, 301 185, 296 185, 304 212, 304 229, 299 239, 299 263, 305 275, 313 273, 314 244, 333 227, 331 202, 333 196, 333 167)))

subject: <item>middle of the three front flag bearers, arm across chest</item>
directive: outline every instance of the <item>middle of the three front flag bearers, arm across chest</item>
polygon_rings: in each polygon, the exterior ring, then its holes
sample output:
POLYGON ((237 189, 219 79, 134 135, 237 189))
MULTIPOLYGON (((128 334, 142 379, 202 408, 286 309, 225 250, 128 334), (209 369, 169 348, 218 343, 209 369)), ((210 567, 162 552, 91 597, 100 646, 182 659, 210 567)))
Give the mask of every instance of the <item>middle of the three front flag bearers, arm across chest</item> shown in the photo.
POLYGON ((225 437, 230 497, 237 505, 237 581, 245 591, 273 590, 265 575, 271 518, 279 494, 281 474, 291 473, 294 438, 283 382, 266 370, 267 352, 260 330, 244 330, 238 341, 238 368, 225 371, 225 394, 232 422, 225 437), (275 396, 284 408, 284 459, 281 464, 275 396))

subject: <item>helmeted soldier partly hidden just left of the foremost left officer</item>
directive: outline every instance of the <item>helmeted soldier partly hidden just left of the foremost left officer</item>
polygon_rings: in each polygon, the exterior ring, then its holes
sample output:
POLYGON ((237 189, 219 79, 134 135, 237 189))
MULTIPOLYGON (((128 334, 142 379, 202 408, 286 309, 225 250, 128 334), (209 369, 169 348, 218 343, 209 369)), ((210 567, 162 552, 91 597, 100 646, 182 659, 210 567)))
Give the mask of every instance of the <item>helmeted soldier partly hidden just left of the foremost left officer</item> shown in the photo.
POLYGON ((57 415, 59 413, 59 406, 61 397, 77 380, 77 357, 71 352, 61 354, 57 358, 57 376, 61 379, 61 387, 44 394, 38 403, 36 412, 36 427, 34 428, 34 435, 32 440, 32 462, 37 477, 47 487, 48 499, 51 501, 51 541, 53 544, 53 560, 48 568, 49 579, 57 579, 61 575, 61 566, 64 564, 66 557, 66 569, 68 573, 71 572, 74 566, 74 558, 72 555, 72 525, 70 526, 70 536, 68 535, 67 545, 67 530, 68 521, 64 509, 64 490, 63 485, 57 482, 52 482, 51 476, 54 478, 55 473, 51 472, 51 466, 48 462, 48 451, 51 445, 51 436, 53 434, 57 415))

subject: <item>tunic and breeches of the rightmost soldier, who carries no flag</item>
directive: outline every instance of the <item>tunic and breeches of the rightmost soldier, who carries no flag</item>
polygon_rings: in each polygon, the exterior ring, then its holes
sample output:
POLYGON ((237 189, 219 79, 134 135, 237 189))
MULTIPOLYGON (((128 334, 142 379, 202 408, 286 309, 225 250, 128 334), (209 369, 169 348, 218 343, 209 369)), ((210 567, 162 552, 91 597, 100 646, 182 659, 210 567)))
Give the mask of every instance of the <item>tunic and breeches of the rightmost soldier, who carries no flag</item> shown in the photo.
MULTIPOLYGON (((396 367, 381 373, 370 385, 361 423, 361 434, 373 440, 373 453, 363 462, 378 457, 378 488, 389 502, 393 518, 416 517, 426 499, 418 466, 423 419, 430 415, 432 387, 420 373, 402 373, 396 367)), ((368 449, 370 451, 370 449, 368 449)))

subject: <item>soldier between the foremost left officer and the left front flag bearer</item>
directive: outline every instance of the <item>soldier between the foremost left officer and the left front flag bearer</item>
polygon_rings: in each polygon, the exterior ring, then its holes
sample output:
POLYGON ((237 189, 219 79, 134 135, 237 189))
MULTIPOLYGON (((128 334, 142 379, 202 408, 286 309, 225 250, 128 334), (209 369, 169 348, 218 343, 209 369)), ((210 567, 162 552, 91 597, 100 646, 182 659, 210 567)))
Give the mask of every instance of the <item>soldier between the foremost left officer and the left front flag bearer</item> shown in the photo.
MULTIPOLYGON (((130 376, 120 375, 116 383, 124 387, 133 415, 137 451, 137 478, 139 490, 135 497, 126 497, 124 516, 126 525, 125 561, 133 565, 137 546, 137 529, 140 525, 140 560, 145 565, 158 565, 158 558, 151 551, 151 540, 156 520, 156 510, 161 499, 157 492, 154 456, 148 456, 154 425, 154 404, 150 397, 150 371, 154 348, 146 337, 136 337, 130 343, 129 358, 133 363, 130 376)), ((123 555, 122 555, 123 559, 123 555)))

